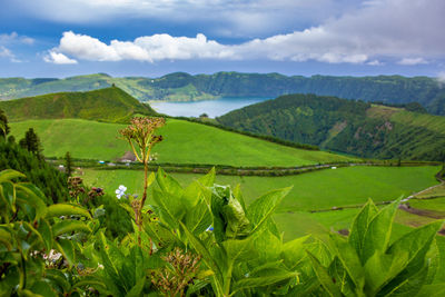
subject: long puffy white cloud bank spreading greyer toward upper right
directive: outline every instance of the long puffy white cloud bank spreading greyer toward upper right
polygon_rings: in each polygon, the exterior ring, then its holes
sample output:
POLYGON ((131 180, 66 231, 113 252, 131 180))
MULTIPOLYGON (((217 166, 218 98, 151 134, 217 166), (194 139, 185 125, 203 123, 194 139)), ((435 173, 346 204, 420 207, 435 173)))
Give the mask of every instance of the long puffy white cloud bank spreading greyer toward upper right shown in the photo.
MULTIPOLYGON (((126 6, 131 1, 115 0, 112 3, 126 6)), ((194 1, 196 4, 204 3, 201 0, 194 1)), ((229 1, 228 6, 235 6, 235 2, 229 1)), ((178 4, 176 0, 159 3, 178 4)), ((251 4, 250 1, 244 3, 251 4)), ((441 29, 445 27, 443 12, 443 0, 429 0, 428 3, 411 0, 409 6, 404 0, 366 1, 359 8, 346 11, 338 18, 330 18, 322 24, 238 44, 222 44, 207 39, 202 33, 192 38, 152 34, 131 41, 112 40, 106 43, 69 31, 63 33, 57 52, 90 61, 268 59, 377 66, 382 65, 380 60, 389 60, 415 66, 445 58, 445 39, 441 29)), ((238 12, 233 14, 237 16, 238 12)), ((254 19, 260 22, 259 17, 254 19)))

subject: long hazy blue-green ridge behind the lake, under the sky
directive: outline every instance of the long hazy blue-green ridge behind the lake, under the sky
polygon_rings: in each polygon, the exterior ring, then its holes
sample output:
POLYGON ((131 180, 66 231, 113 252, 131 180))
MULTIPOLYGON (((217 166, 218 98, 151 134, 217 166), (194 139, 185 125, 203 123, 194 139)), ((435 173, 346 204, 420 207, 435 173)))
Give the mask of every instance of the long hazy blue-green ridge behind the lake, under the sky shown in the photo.
POLYGON ((67 79, 0 79, 0 98, 20 98, 59 91, 87 91, 115 83, 141 101, 192 101, 217 97, 278 97, 316 93, 386 103, 419 102, 428 112, 445 115, 445 87, 435 78, 287 77, 278 73, 218 72, 191 76, 176 72, 161 78, 112 78, 107 75, 67 79))

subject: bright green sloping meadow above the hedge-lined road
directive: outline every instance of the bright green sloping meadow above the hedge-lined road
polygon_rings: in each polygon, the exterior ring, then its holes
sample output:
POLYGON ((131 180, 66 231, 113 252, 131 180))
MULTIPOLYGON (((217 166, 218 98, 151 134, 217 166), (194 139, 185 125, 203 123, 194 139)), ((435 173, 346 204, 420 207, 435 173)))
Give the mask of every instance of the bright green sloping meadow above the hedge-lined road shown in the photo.
MULTIPOLYGON (((73 158, 116 160, 129 150, 126 141, 117 139, 125 125, 63 119, 28 120, 10 126, 16 139, 34 128, 47 157, 62 157, 70 151, 73 158)), ((168 120, 159 133, 165 137, 154 149, 159 154, 159 162, 290 167, 354 159, 285 147, 184 120, 168 120)))

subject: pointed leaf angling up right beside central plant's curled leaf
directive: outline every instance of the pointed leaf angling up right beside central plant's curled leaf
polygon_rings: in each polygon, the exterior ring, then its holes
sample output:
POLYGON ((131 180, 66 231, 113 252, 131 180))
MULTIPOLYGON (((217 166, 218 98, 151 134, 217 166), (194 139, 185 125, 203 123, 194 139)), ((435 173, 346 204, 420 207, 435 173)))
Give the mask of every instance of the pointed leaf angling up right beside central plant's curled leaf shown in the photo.
POLYGON ((269 191, 247 208, 247 217, 254 226, 251 232, 256 232, 263 227, 290 189, 291 187, 269 191))

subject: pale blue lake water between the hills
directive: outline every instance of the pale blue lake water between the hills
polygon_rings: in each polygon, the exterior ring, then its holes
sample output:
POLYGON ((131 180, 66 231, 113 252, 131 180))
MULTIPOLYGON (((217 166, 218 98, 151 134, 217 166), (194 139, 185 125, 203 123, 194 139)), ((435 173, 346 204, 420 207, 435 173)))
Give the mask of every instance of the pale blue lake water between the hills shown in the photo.
POLYGON ((210 118, 215 118, 268 99, 270 98, 222 97, 215 100, 191 102, 150 102, 150 106, 160 113, 174 117, 199 117, 207 113, 210 118))

